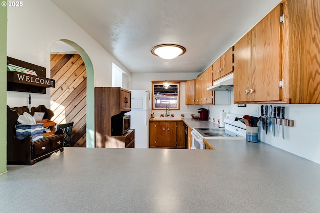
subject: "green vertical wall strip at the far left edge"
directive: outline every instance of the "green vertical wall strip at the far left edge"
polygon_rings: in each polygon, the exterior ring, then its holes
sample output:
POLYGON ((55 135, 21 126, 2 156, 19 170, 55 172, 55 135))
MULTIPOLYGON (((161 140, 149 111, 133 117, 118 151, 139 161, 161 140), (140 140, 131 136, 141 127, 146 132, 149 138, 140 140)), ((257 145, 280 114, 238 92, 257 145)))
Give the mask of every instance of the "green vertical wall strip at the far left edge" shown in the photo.
POLYGON ((0 174, 6 172, 6 25, 7 7, 0 6, 0 174))

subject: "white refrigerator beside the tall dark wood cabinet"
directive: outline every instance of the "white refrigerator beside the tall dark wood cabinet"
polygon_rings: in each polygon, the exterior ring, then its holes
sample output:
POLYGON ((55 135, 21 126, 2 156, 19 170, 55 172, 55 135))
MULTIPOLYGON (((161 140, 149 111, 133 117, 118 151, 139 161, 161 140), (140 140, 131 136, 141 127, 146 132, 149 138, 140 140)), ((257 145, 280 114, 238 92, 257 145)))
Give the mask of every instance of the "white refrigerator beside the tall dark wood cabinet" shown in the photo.
POLYGON ((149 148, 150 93, 131 90, 130 128, 134 129, 134 148, 149 148))

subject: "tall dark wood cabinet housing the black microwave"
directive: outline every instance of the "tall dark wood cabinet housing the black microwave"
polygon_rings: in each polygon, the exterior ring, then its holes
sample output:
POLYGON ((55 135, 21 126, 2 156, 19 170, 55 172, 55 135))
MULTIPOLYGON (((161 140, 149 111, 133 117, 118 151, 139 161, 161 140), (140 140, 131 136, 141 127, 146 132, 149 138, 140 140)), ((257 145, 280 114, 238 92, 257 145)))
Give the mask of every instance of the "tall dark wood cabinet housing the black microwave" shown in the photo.
POLYGON ((131 110, 131 91, 120 87, 94 88, 95 147, 134 148, 134 130, 111 135, 111 117, 131 110))

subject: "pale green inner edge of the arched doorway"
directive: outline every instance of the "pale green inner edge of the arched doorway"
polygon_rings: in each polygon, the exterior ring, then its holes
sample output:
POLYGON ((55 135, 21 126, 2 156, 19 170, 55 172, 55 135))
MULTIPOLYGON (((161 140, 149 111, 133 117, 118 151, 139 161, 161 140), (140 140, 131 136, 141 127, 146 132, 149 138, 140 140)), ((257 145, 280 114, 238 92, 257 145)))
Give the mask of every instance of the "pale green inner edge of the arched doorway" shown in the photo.
MULTIPOLYGON (((94 84, 93 84, 93 66, 92 66, 92 62, 89 58, 89 56, 86 54, 86 52, 76 43, 74 43, 73 41, 67 40, 67 39, 61 39, 59 41, 62 41, 66 44, 68 44, 69 46, 71 46, 75 52, 79 55, 79 56, 75 56, 76 57, 80 57, 83 61, 82 63, 84 63, 84 68, 86 71, 86 106, 84 106, 86 108, 86 118, 85 118, 85 141, 86 141, 86 145, 85 147, 94 147, 94 84)), ((71 62, 72 63, 72 62, 71 62)), ((78 62, 79 66, 81 65, 81 61, 78 62)), ((79 67, 80 69, 81 67, 79 67)), ((76 73, 75 73, 76 75, 76 73)), ((82 75, 83 77, 83 75, 82 75)), ((82 90, 84 91, 84 90, 82 90)), ((65 92, 65 94, 67 94, 67 92, 65 92)), ((82 102, 85 100, 82 100, 82 102)), ((52 102, 52 100, 51 100, 52 102)), ((53 105, 59 105, 61 103, 53 103, 53 105)), ((51 103, 52 106, 52 103, 51 103)), ((63 106, 61 106, 63 108, 63 106)), ((85 110, 85 109, 84 109, 85 110)), ((82 110, 83 111, 83 110, 82 110)), ((81 112, 79 112, 81 113, 81 112)), ((82 112, 83 113, 83 112, 82 112)))

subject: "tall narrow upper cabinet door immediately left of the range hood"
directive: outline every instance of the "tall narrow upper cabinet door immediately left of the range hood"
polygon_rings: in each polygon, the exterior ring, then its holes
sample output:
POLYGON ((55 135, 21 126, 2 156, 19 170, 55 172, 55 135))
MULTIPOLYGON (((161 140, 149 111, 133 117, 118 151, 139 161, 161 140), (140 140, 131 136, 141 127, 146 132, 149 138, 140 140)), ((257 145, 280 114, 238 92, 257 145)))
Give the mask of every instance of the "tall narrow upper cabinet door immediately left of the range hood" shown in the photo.
POLYGON ((201 104, 212 104, 212 91, 206 90, 206 88, 212 86, 212 66, 209 66, 201 76, 201 104))

